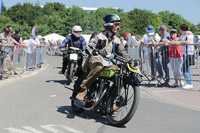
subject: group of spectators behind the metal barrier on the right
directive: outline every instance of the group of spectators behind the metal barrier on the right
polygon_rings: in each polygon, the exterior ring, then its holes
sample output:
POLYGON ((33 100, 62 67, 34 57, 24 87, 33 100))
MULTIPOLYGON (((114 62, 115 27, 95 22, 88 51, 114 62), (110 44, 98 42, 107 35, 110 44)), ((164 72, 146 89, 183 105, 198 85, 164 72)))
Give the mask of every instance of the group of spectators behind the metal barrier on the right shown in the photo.
MULTIPOLYGON (((195 65, 195 57, 198 54, 198 46, 195 45, 193 33, 188 30, 186 24, 180 25, 180 36, 178 36, 177 29, 171 29, 168 32, 165 25, 158 29, 159 34, 155 33, 152 25, 149 25, 145 28, 147 33, 141 39, 126 32, 120 38, 121 44, 130 55, 133 51, 129 51, 129 47, 141 46, 138 50, 142 53, 143 63, 146 66, 143 74, 151 77, 151 80, 164 79, 165 82, 160 86, 192 89, 191 67, 195 65), (185 77, 185 83, 181 80, 182 74, 185 77), (174 83, 171 84, 172 81, 174 83)), ((197 44, 198 42, 200 40, 197 44)))

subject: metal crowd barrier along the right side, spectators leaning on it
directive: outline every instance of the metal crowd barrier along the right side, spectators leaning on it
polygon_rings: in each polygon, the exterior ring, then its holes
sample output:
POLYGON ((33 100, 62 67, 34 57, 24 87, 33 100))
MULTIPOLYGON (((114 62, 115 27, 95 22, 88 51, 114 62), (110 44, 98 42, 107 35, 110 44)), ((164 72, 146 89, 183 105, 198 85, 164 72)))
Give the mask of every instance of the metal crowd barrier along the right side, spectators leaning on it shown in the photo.
MULTIPOLYGON (((139 46, 139 47, 129 47, 128 53, 132 58, 140 59, 141 71, 149 81, 148 85, 152 81, 157 81, 156 86, 162 84, 166 80, 170 80, 173 84, 175 79, 181 80, 186 84, 189 81, 192 82, 195 90, 200 90, 200 45, 199 44, 189 44, 189 45, 163 45, 163 46, 139 46), (186 62, 188 54, 185 51, 186 47, 194 47, 194 64, 189 65, 186 62), (182 49, 183 57, 180 57, 180 53, 177 52, 177 48, 182 49), (176 59, 171 58, 176 57, 176 59), (178 58, 180 57, 180 58, 178 58), (172 68, 173 67, 173 68, 172 68), (168 69, 167 69, 168 68, 168 69), (168 71, 169 70, 169 71, 168 71), (177 78, 177 70, 180 75, 177 78), (191 70, 191 78, 187 79, 184 74, 188 75, 188 71, 191 70)), ((192 51, 189 51, 190 54, 192 51)), ((190 56, 190 58, 193 58, 190 56)))

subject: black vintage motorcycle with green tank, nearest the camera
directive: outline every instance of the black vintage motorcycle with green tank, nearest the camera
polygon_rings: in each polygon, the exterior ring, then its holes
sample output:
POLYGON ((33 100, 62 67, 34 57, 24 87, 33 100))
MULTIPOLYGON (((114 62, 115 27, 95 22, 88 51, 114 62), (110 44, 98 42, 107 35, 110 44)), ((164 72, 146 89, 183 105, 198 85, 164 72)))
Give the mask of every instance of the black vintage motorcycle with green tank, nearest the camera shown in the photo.
POLYGON ((107 116, 111 125, 123 126, 136 112, 140 98, 139 85, 143 75, 139 70, 140 60, 130 62, 121 56, 115 56, 111 61, 119 69, 103 69, 91 85, 83 102, 75 97, 86 76, 83 75, 79 78, 80 81, 79 79, 76 81, 70 97, 71 106, 74 112, 93 110, 107 116))

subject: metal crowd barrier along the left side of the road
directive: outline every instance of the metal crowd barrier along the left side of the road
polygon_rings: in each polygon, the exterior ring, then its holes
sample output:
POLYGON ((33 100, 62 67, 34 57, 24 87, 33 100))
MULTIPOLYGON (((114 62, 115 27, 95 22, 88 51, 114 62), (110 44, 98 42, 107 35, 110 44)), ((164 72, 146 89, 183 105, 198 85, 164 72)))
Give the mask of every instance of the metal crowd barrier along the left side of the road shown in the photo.
MULTIPOLYGON (((17 72, 38 69, 46 60, 47 47, 29 47, 15 46, 10 48, 8 53, 7 74, 17 74, 17 72)), ((0 75, 2 73, 3 56, 0 55, 0 75)))

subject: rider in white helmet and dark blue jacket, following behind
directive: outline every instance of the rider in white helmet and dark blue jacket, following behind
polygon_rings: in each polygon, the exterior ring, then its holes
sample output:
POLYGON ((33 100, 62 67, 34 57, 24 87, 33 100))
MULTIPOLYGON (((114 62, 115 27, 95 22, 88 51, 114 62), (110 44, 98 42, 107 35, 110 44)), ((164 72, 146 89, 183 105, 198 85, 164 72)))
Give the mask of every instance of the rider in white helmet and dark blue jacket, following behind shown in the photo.
MULTIPOLYGON (((79 48, 82 51, 82 53, 85 53, 86 42, 81 35, 82 35, 82 28, 78 25, 75 25, 72 28, 72 34, 67 36, 65 40, 62 41, 60 47, 65 47, 65 49, 69 49, 69 47, 76 47, 79 48)), ((68 62, 69 62, 69 54, 65 50, 63 52, 63 63, 62 63, 62 70, 59 72, 60 74, 65 73, 68 62)), ((79 54, 78 68, 76 75, 82 69, 82 62, 83 62, 83 57, 81 56, 81 54, 79 54)))

